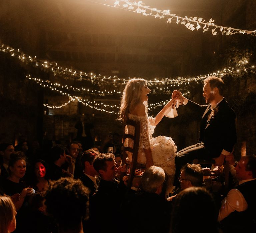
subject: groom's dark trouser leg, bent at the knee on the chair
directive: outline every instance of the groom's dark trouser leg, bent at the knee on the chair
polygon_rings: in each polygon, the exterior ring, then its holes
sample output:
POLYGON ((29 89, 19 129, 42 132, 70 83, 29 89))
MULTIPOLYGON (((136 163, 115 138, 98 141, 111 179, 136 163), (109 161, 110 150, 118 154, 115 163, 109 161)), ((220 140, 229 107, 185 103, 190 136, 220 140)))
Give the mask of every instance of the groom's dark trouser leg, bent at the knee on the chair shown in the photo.
POLYGON ((203 143, 197 143, 195 145, 188 146, 179 152, 175 157, 175 166, 176 173, 174 178, 174 186, 180 186, 180 182, 178 180, 180 176, 180 169, 186 163, 192 163, 195 158, 205 158, 205 149, 203 143))

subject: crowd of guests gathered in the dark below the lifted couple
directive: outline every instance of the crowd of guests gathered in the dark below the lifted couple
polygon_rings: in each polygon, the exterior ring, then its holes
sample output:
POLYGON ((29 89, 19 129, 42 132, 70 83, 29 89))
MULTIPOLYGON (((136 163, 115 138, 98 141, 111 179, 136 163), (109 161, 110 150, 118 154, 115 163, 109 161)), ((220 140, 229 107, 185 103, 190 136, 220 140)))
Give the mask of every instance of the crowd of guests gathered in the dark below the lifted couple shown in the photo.
POLYGON ((215 181, 208 185, 209 168, 186 164, 178 194, 166 198, 160 167, 147 168, 127 190, 128 176, 121 176, 127 167, 118 153, 83 151, 72 141, 32 159, 25 145, 17 151, 0 144, 0 233, 255 232, 256 156, 226 157, 238 181, 226 196, 215 181))

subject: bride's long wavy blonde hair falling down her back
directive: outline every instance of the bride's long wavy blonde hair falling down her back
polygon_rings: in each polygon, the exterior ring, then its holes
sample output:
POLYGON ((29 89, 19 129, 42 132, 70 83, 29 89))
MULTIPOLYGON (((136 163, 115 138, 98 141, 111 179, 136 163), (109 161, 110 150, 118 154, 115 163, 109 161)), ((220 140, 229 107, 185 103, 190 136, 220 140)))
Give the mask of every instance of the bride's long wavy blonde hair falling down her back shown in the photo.
POLYGON ((119 119, 125 120, 128 114, 141 103, 141 89, 147 84, 145 79, 131 79, 125 86, 119 112, 119 119))

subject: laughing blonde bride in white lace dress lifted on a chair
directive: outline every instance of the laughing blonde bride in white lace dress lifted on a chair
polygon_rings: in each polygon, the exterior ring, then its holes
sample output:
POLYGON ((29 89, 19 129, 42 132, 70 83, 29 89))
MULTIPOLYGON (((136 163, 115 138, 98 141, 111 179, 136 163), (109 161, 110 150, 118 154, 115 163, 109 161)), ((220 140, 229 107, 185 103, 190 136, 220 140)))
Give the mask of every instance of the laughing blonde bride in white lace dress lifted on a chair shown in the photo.
MULTIPOLYGON (((155 126, 176 100, 170 100, 153 118, 147 114, 147 101, 150 89, 144 79, 131 79, 124 88, 120 107, 120 119, 140 121, 140 140, 137 163, 146 164, 146 168, 155 165, 162 167, 168 175, 166 193, 169 194, 175 174, 176 145, 172 138, 166 136, 152 137, 155 126)), ((125 128, 126 133, 134 135, 134 127, 125 128)), ((126 139, 124 146, 133 146, 133 140, 126 139)), ((128 153, 131 161, 132 154, 128 153)))

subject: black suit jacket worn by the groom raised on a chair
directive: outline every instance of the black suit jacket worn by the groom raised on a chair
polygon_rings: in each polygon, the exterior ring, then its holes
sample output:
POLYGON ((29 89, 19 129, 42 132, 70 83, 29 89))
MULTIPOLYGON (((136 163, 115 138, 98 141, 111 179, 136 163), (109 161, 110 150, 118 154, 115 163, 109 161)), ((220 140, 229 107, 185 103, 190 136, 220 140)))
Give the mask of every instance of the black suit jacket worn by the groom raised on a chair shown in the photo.
POLYGON ((218 157, 221 151, 232 152, 236 143, 236 128, 234 111, 229 107, 225 98, 217 106, 217 113, 208 122, 208 116, 211 114, 210 104, 199 105, 188 101, 186 105, 189 109, 203 113, 200 123, 200 137, 205 146, 206 156, 208 158, 218 157))

